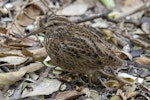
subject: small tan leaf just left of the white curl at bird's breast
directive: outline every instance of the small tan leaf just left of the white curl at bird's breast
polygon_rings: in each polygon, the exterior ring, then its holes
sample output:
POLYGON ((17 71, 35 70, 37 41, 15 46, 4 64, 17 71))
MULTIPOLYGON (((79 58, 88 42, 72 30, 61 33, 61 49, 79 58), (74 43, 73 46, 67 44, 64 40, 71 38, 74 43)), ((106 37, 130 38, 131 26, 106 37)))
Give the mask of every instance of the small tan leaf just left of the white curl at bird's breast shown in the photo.
POLYGON ((30 73, 30 72, 35 72, 41 69, 42 67, 44 67, 44 65, 41 62, 36 62, 36 63, 31 63, 26 67, 20 68, 20 71, 27 71, 27 73, 30 73))

